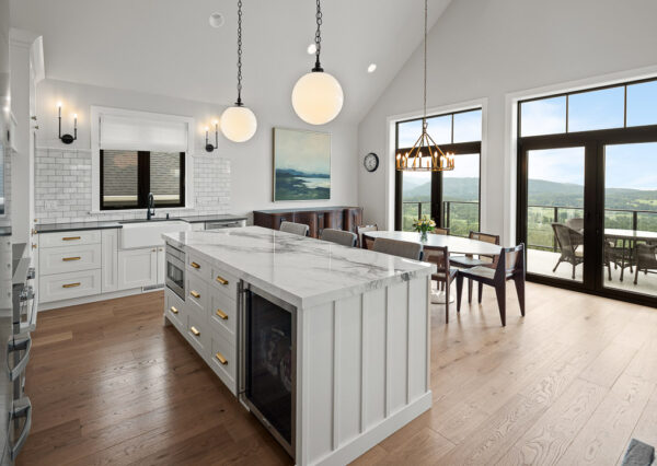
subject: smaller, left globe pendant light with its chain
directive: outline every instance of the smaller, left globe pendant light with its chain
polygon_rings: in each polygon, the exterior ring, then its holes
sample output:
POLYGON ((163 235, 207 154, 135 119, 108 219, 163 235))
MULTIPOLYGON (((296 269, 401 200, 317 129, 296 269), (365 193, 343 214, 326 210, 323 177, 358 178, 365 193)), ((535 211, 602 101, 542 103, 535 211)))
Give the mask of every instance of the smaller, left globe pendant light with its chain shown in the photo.
POLYGON ((233 142, 244 142, 256 129, 255 115, 242 103, 242 0, 238 0, 238 102, 221 114, 221 132, 233 142))

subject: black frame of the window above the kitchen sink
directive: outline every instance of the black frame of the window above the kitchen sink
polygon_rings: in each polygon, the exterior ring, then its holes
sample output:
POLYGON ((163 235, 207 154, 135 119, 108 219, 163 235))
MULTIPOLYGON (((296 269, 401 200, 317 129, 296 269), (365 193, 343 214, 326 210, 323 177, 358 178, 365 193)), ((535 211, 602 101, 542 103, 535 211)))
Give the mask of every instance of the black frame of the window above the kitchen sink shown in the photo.
MULTIPOLYGON (((137 206, 105 206, 104 195, 104 150, 100 150, 100 189, 99 206, 101 210, 135 210, 148 208, 148 194, 150 193, 150 155, 155 151, 128 151, 137 152, 137 206)), ((158 202, 157 208, 184 208, 185 207, 185 152, 180 152, 180 202, 158 202)))

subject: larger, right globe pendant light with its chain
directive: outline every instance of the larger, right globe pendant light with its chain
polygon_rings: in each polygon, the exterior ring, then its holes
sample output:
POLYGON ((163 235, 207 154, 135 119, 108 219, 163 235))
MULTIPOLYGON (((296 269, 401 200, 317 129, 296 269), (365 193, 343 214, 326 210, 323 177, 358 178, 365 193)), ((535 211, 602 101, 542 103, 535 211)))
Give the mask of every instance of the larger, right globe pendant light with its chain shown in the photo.
POLYGON ((303 121, 311 125, 324 125, 335 118, 345 100, 337 80, 324 72, 320 63, 322 35, 322 8, 318 0, 318 31, 315 32, 315 66, 311 72, 302 75, 292 90, 292 107, 303 121))

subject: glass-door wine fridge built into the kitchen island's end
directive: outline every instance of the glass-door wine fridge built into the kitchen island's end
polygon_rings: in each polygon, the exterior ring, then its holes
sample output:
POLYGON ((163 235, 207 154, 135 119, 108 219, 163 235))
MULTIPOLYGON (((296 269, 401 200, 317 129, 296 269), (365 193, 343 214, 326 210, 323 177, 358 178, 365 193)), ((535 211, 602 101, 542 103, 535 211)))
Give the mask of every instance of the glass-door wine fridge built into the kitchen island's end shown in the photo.
POLYGON ((295 457, 297 308, 241 286, 240 400, 295 457))

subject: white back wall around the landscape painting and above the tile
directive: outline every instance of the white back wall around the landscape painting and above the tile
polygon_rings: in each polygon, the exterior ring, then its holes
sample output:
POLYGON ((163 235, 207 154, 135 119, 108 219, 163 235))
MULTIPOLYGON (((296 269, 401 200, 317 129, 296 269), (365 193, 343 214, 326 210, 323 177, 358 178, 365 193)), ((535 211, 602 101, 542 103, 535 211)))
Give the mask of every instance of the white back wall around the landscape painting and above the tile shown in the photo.
MULTIPOLYGON (((46 57, 47 60, 47 57, 46 57)), ((278 98, 273 101, 278 101, 278 98)), ((143 112, 191 116, 196 120, 196 154, 205 152, 204 127, 221 115, 224 106, 172 98, 132 91, 123 91, 93 85, 46 79, 37 86, 37 115, 39 131, 37 145, 55 149, 85 149, 90 143, 90 106, 100 105, 143 112), (72 115, 78 114, 78 140, 65 145, 57 139, 57 103, 62 107, 62 132, 72 133, 72 115)), ((258 129, 246 143, 230 142, 219 135, 216 156, 227 158, 231 166, 231 211, 247 213, 252 210, 310 206, 308 202, 272 201, 273 153, 272 128, 286 127, 313 129, 303 124, 293 113, 291 103, 279 107, 258 102, 254 105, 258 129)), ((335 123, 316 128, 332 133, 331 200, 313 201, 312 206, 336 206, 357 203, 357 129, 353 124, 335 123)), ((214 139, 214 136, 211 137, 214 139)))

